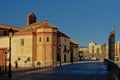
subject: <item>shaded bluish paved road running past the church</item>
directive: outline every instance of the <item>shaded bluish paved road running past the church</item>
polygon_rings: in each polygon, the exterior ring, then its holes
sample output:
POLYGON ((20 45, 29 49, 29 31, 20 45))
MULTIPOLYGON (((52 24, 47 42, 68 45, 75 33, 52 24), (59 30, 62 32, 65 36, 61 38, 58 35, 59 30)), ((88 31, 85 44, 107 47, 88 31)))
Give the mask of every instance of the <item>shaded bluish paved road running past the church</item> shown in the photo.
POLYGON ((112 77, 104 63, 88 61, 50 69, 13 73, 13 78, 3 80, 112 80, 112 77))

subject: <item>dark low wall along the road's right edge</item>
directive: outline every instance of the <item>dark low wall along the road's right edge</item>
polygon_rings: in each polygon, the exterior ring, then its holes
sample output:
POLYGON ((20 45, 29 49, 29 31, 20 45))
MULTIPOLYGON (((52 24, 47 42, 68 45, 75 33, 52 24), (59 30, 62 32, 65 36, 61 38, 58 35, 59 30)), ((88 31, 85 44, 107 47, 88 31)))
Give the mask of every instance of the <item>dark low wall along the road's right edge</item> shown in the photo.
POLYGON ((120 80, 120 68, 111 60, 105 59, 104 63, 107 65, 108 70, 113 75, 115 80, 120 80))

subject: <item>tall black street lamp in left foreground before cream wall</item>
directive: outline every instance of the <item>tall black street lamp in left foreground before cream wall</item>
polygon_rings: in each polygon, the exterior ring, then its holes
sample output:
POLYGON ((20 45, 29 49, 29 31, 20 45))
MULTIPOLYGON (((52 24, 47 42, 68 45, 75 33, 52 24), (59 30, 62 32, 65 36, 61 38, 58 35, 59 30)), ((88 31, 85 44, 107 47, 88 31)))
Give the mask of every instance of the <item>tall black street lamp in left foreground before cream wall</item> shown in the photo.
POLYGON ((8 71, 8 77, 12 77, 12 72, 11 72, 11 38, 14 35, 14 30, 10 28, 8 30, 8 37, 9 37, 9 71, 8 71))

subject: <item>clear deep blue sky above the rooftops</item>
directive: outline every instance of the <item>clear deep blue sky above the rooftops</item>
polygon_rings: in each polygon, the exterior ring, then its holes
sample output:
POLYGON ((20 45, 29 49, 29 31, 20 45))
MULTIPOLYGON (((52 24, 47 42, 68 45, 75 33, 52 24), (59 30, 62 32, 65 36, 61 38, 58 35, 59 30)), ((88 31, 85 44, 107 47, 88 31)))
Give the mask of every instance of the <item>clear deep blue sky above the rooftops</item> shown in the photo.
POLYGON ((1 24, 23 27, 30 12, 38 21, 48 19, 80 46, 108 42, 114 24, 120 40, 120 0, 0 0, 1 24))

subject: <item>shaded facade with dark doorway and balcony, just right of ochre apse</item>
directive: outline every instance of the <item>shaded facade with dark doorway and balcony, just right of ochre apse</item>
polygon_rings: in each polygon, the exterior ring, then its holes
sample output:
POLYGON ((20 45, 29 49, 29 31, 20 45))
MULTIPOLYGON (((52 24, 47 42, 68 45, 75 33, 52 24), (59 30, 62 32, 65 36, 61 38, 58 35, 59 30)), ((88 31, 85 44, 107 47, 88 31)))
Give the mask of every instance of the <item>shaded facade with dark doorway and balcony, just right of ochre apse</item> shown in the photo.
POLYGON ((58 48, 61 62, 70 62, 70 37, 62 32, 58 32, 58 48))

